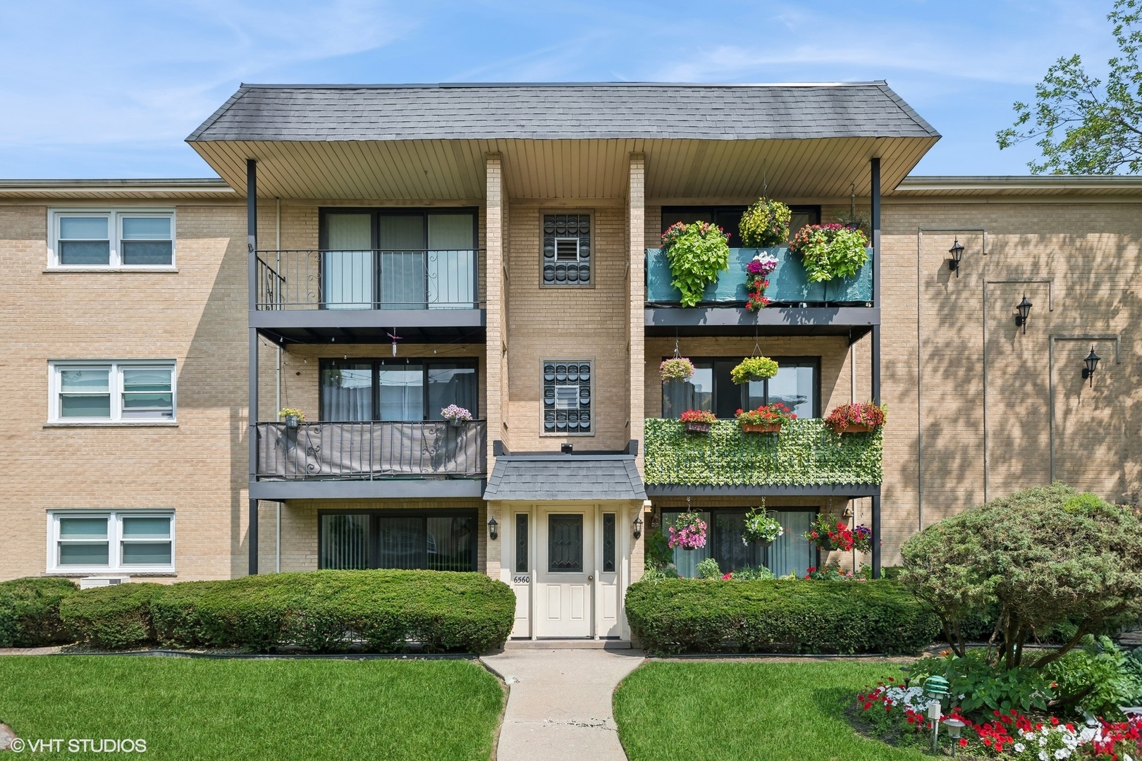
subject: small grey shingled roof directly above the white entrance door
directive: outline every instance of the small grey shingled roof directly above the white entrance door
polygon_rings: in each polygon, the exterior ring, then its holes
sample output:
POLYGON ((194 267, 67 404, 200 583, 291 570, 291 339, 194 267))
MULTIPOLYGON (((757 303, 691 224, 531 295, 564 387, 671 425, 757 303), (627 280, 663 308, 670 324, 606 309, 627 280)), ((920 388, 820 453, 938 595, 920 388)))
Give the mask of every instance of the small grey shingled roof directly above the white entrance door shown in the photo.
POLYGON ((485 500, 645 500, 632 455, 515 455, 496 459, 485 500))

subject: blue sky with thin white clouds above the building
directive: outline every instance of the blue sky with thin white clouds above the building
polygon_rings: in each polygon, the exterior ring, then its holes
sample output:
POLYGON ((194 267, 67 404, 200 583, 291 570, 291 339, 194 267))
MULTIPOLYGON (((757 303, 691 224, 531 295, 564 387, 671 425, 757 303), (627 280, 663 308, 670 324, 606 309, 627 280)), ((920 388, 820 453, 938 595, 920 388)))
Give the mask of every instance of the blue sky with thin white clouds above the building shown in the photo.
POLYGON ((922 175, 1021 175, 995 132, 1109 0, 6 0, 0 177, 208 177, 183 143, 240 82, 885 79, 943 139, 922 175))

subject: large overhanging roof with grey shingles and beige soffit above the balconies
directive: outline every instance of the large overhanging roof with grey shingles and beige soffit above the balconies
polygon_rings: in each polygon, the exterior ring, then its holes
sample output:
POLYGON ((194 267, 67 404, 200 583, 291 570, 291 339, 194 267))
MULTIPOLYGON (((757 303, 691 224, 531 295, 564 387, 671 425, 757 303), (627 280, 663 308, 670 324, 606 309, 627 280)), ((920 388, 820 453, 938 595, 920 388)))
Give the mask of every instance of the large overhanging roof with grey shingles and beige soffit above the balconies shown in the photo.
POLYGON ((620 199, 646 154, 650 199, 869 194, 940 138, 883 82, 243 84, 187 141, 259 195, 480 200, 484 156, 516 199, 620 199))

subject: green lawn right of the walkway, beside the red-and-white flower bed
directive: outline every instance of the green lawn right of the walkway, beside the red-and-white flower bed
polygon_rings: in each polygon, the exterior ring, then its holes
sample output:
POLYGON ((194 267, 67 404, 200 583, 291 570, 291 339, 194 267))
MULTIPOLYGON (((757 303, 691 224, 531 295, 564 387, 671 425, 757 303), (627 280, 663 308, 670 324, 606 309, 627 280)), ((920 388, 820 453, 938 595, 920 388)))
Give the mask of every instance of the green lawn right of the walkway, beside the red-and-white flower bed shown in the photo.
POLYGON ((894 663, 651 661, 614 691, 614 720, 630 761, 918 761, 856 735, 844 710, 894 663))

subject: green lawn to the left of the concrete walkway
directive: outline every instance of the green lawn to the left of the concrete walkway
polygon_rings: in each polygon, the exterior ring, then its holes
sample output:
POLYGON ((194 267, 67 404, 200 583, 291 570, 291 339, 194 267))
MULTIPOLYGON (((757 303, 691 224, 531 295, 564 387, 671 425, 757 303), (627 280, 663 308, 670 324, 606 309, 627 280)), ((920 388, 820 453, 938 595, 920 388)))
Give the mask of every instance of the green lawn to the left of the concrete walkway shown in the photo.
POLYGON ((0 657, 17 736, 144 738, 147 759, 486 761, 502 705, 468 661, 0 657))

